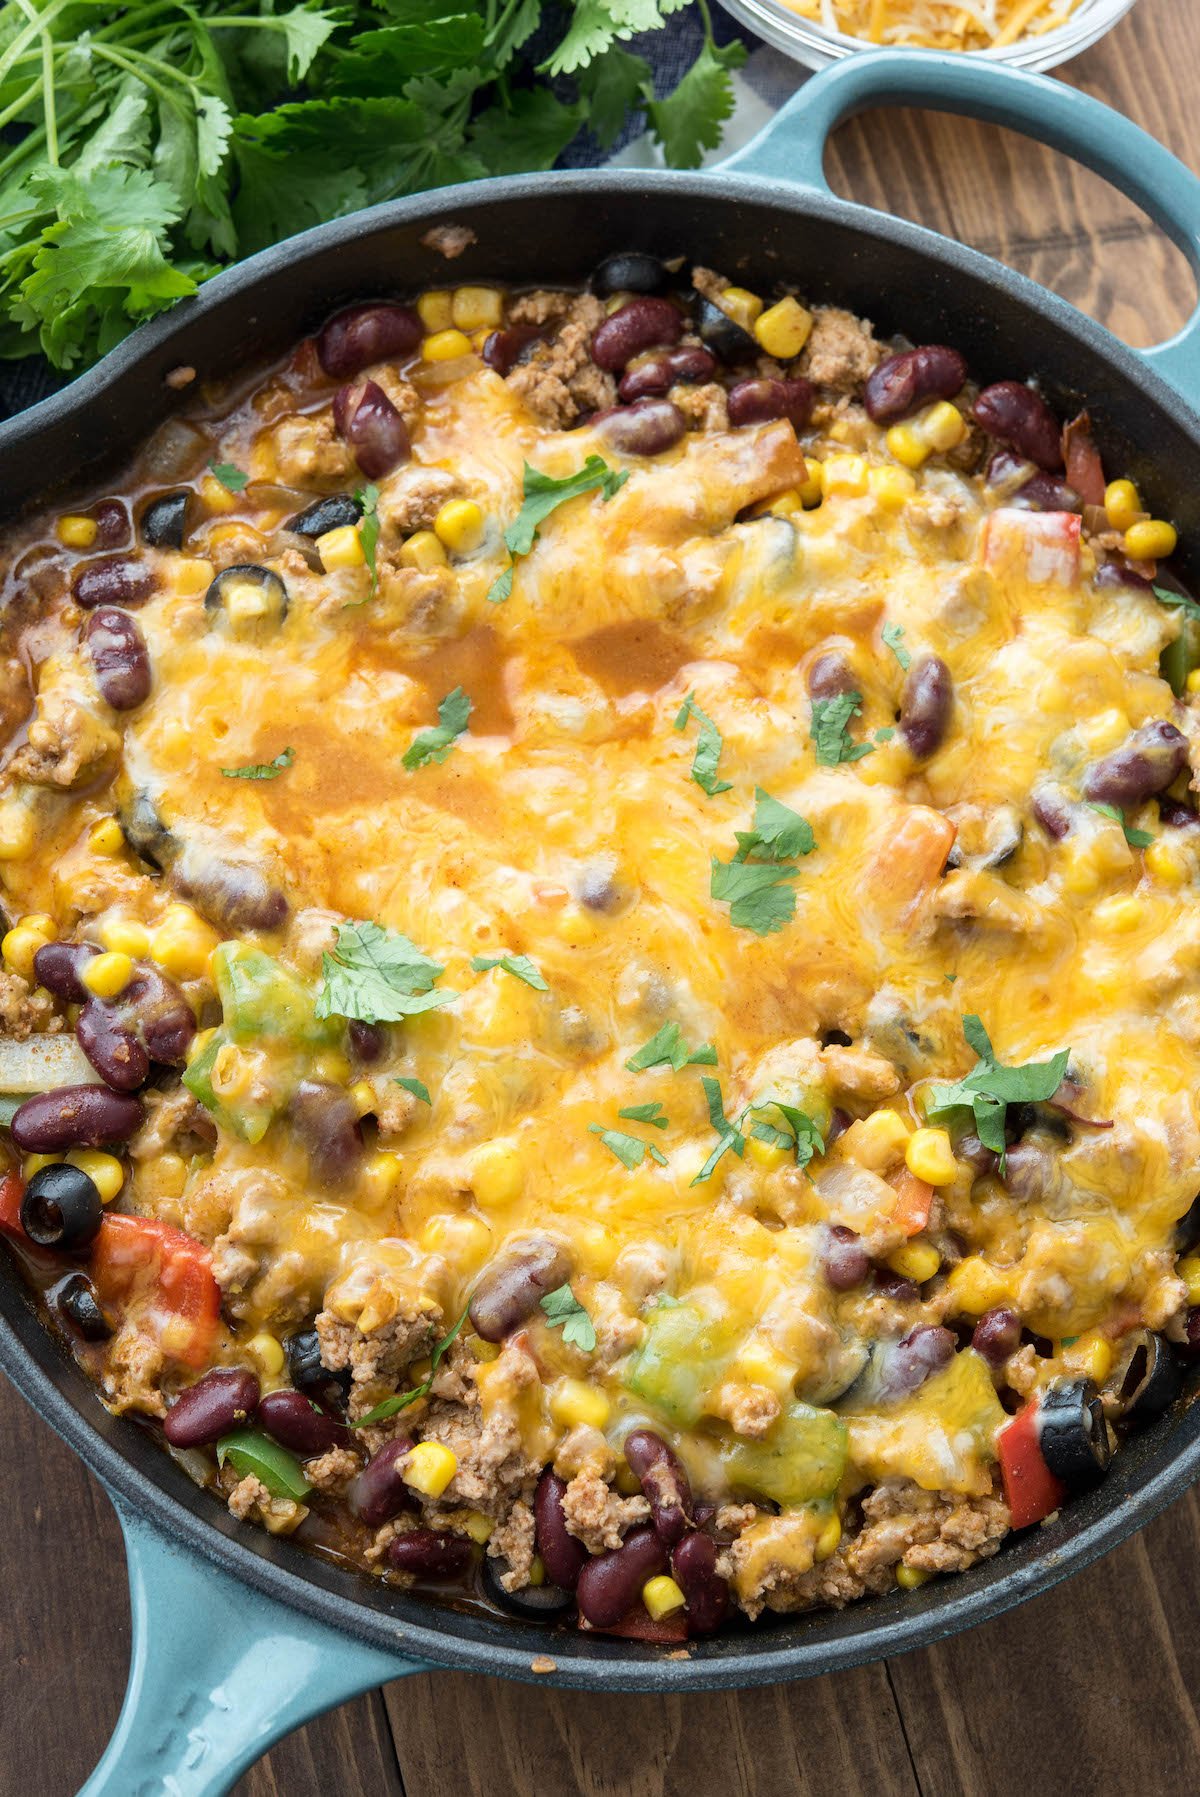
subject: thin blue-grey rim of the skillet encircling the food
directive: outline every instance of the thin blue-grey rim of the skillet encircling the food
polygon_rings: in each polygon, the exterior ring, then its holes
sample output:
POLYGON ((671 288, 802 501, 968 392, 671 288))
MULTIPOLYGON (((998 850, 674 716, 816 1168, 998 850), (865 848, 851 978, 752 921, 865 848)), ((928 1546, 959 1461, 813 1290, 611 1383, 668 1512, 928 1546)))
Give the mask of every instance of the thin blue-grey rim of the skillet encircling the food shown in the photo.
MULTIPOLYGON (((1108 367, 1116 381, 1134 386, 1157 412, 1166 413, 1200 451, 1200 417, 1137 350, 1121 343, 1067 300, 977 250, 855 201, 762 176, 724 174, 720 171, 679 174, 589 169, 505 176, 465 187, 447 187, 410 199, 384 201, 347 219, 313 226, 282 244, 273 244, 217 275, 201 288, 196 298, 185 300, 142 325, 101 363, 57 394, 2 422, 0 464, 18 451, 29 453, 31 440, 36 446, 41 431, 75 417, 86 419, 88 410, 110 394, 129 370, 142 365, 160 365, 165 372, 178 361, 185 361, 187 338, 201 320, 226 305, 235 311, 239 302, 253 295, 260 280, 275 275, 280 268, 295 268, 296 273, 302 273, 305 264, 320 262, 361 235, 386 234, 395 226, 413 223, 451 223, 456 216, 485 210, 498 199, 539 201, 548 194, 595 198, 598 190, 647 198, 659 194, 693 199, 715 198, 724 205, 737 205, 740 199, 767 203, 774 210, 792 216, 828 219, 850 226, 869 239, 875 250, 896 244, 932 259, 941 270, 961 268, 1017 302, 1035 320, 1046 320, 1080 340, 1108 367)), ((171 401, 172 395, 167 390, 163 417, 172 410, 171 401)), ((1121 1492, 1119 1475, 1110 1475, 1107 1486, 1098 1488, 1087 1499, 1076 1499, 1063 1511, 1063 1524, 1051 1526, 1065 1529, 1063 1542, 1054 1540, 1044 1551, 1033 1551, 1037 1544, 1031 1536, 1008 1536, 1006 1549, 997 1560, 950 1580, 931 1581, 920 1592, 902 1594, 898 1601, 895 1598, 869 1598, 844 1612, 808 1612, 814 1619, 808 1624, 810 1639, 780 1646, 780 1630, 798 1626, 796 1619, 790 1619, 778 1626, 762 1628, 760 1624, 747 1633, 697 1642, 693 1657, 672 1660, 641 1644, 587 1642, 578 1633, 560 1637, 517 1619, 481 1619, 395 1592, 388 1592, 395 1608, 384 1610, 374 1583, 363 1587, 361 1574, 332 1569, 295 1544, 264 1538, 250 1545, 244 1531, 235 1531, 228 1518, 228 1531, 219 1526, 223 1511, 214 1506, 212 1495, 190 1488, 181 1470, 172 1466, 158 1447, 147 1439, 137 1443, 135 1438, 126 1438, 131 1448, 137 1445, 138 1457, 153 1452, 154 1472, 151 1474, 135 1465, 131 1452, 115 1447, 101 1430, 99 1421, 88 1420, 83 1407, 66 1396, 65 1384, 70 1382, 72 1389, 79 1389, 88 1403, 97 1403, 95 1387, 54 1342, 36 1315, 14 1267, 7 1267, 0 1278, 0 1368, 113 1495, 151 1520, 169 1542, 185 1545, 201 1560, 225 1567, 257 1592, 287 1608, 313 1616, 340 1633, 397 1655, 411 1655, 435 1666, 494 1673, 566 1689, 665 1693, 749 1687, 837 1671, 929 1646, 975 1623, 1001 1616, 1028 1598, 1051 1590, 1063 1578, 1081 1571, 1126 1540, 1200 1479, 1200 1407, 1193 1407, 1182 1414, 1182 1420, 1177 1418, 1175 1425, 1169 1420, 1160 1420, 1143 1438, 1148 1448, 1157 1450, 1160 1465, 1155 1465, 1151 1457, 1150 1470, 1134 1472, 1134 1484, 1126 1493, 1121 1492), (14 1312, 20 1315, 20 1326, 14 1323, 14 1312), (1184 1445, 1169 1454, 1168 1430, 1191 1439, 1184 1439, 1184 1445), (181 1481, 187 1492, 172 1495, 167 1488, 172 1481, 181 1481), (201 1502, 192 1506, 183 1502, 183 1495, 194 1495, 201 1502), (1004 1562, 1010 1558, 1015 1563, 1004 1569, 1004 1562), (363 1596, 354 1596, 352 1592, 359 1589, 363 1596), (368 1603, 366 1592, 374 1592, 375 1601, 368 1603), (413 1619, 410 1612, 417 1612, 419 1619, 413 1619), (555 1671, 534 1673, 530 1659, 544 1653, 555 1657, 555 1671)), ((108 1425, 110 1429, 119 1427, 111 1418, 108 1418, 108 1425)))

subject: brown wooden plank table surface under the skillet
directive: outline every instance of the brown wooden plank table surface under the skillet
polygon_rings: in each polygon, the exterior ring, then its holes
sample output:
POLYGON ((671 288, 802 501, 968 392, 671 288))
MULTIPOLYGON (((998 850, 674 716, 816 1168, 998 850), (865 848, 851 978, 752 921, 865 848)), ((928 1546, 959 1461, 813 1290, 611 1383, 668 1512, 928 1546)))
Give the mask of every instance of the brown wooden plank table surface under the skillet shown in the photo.
MULTIPOLYGON (((1196 0, 1141 0, 1065 79, 1200 165, 1196 0)), ((1175 248, 1112 189, 1010 133, 878 113, 835 185, 1022 268, 1130 343, 1193 305, 1175 248)), ((120 1705, 129 1605, 108 1499, 0 1382, 0 1793, 68 1797, 120 1705)), ((582 1696, 410 1678, 318 1718, 239 1797, 1157 1797, 1200 1783, 1200 1506, 923 1653, 749 1695, 582 1696)))

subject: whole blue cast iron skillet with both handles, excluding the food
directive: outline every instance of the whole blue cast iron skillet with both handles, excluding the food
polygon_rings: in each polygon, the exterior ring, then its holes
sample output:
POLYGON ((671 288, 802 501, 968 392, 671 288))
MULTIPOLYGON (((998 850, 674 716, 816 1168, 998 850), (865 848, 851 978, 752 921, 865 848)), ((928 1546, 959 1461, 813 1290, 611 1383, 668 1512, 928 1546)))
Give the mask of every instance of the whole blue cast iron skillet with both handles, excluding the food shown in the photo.
MULTIPOLYGON (((577 282, 605 253, 645 248, 720 268, 749 288, 794 280, 947 341, 981 381, 1037 376, 1063 415, 1087 401, 1110 467, 1180 527, 1200 580, 1200 313, 1146 354, 1117 343, 1020 275, 914 225, 834 198, 828 133, 873 104, 918 104, 1015 126, 1072 153, 1146 208, 1200 268, 1200 181, 1126 119, 1042 75, 918 52, 848 58, 812 79, 720 171, 517 176, 383 205, 295 237, 221 275, 138 331, 63 394, 0 426, 9 510, 81 471, 128 460, 174 397, 180 363, 223 376, 280 354, 334 305, 447 277, 577 282), (474 232, 446 264, 422 239, 474 232)), ((113 1741, 86 1797, 217 1797, 286 1731, 357 1691, 428 1666, 593 1691, 776 1684, 923 1646, 1080 1571, 1200 1475, 1200 1407, 1178 1405, 1117 1454, 1107 1483, 986 1563, 841 1614, 776 1617, 686 1659, 634 1642, 505 1621, 388 1590, 295 1544, 239 1527, 129 1420, 110 1418, 0 1269, 0 1364, 108 1486, 126 1533, 133 1664, 113 1741)), ((36 1572, 34 1572, 36 1576, 36 1572)))

